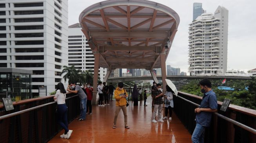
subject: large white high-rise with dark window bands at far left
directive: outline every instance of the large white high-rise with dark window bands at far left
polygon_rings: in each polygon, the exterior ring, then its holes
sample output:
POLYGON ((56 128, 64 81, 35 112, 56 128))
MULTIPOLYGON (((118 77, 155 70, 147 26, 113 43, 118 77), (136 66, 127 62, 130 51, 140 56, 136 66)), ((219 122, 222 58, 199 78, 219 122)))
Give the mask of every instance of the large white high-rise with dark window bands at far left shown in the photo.
MULTIPOLYGON (((33 71, 32 95, 55 91, 67 65, 67 0, 0 1, 0 67, 33 71)), ((67 86, 67 83, 64 83, 67 86)))

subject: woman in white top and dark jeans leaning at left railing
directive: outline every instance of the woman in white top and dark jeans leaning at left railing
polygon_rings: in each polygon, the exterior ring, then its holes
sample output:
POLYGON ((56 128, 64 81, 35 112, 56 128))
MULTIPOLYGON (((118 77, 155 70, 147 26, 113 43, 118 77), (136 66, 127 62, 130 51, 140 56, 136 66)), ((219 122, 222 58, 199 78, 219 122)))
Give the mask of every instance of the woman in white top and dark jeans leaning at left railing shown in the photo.
POLYGON ((60 135, 60 138, 69 139, 73 130, 68 129, 69 124, 67 122, 67 105, 65 104, 66 90, 64 88, 64 85, 61 82, 57 84, 56 94, 53 97, 53 99, 54 101, 57 101, 58 123, 65 130, 65 132, 62 135, 60 135))

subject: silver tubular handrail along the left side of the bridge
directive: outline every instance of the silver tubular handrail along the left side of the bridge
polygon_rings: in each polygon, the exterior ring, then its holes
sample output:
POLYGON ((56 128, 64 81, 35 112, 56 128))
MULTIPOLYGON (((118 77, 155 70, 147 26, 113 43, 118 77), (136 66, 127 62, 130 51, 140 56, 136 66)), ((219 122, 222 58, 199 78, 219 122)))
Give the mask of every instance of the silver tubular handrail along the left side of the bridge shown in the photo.
MULTIPOLYGON (((78 95, 74 95, 74 96, 72 96, 72 97, 68 97, 68 98, 66 98, 66 100, 67 100, 67 99, 70 99, 70 98, 77 97, 77 96, 78 96, 78 95)), ((52 96, 52 97, 53 97, 53 96, 52 96)), ((24 109, 24 110, 22 110, 22 111, 18 111, 18 112, 15 112, 15 113, 6 114, 6 115, 4 115, 4 116, 0 116, 0 120, 3 120, 3 119, 5 119, 5 118, 9 118, 9 117, 12 117, 12 116, 16 116, 16 115, 18 115, 18 114, 22 114, 22 113, 25 113, 25 112, 28 112, 28 111, 32 111, 32 110, 34 110, 34 109, 38 109, 38 108, 40 108, 40 107, 44 107, 44 106, 46 106, 46 105, 50 105, 50 104, 54 104, 54 103, 56 103, 56 101, 49 102, 49 103, 47 103, 47 104, 38 105, 38 106, 36 106, 36 107, 24 109)))

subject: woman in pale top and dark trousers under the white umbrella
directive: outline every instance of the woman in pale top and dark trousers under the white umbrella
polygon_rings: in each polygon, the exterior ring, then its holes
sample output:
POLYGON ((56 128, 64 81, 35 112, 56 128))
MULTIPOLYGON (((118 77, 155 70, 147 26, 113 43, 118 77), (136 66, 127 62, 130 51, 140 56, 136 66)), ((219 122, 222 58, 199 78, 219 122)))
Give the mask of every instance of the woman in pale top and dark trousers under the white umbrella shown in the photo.
POLYGON ((167 115, 168 115, 168 110, 169 110, 169 120, 172 120, 172 108, 173 108, 173 91, 172 89, 166 85, 166 93, 164 95, 164 106, 165 106, 165 117, 163 117, 163 119, 167 119, 167 115))

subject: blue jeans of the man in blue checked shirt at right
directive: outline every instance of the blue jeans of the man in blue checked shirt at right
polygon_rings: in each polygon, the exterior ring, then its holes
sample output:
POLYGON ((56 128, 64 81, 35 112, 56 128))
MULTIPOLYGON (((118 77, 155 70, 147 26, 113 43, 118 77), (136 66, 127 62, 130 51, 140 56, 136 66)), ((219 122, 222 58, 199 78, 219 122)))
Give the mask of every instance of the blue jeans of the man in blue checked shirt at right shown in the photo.
POLYGON ((196 123, 196 128, 192 134, 192 143, 203 143, 203 134, 205 131, 205 127, 196 123))

